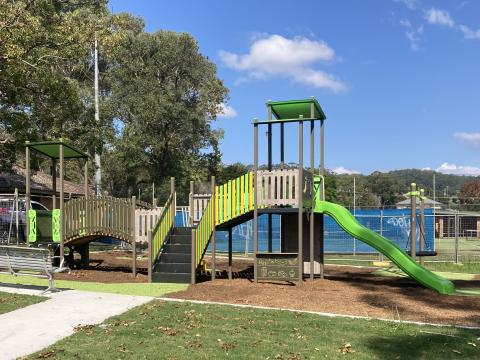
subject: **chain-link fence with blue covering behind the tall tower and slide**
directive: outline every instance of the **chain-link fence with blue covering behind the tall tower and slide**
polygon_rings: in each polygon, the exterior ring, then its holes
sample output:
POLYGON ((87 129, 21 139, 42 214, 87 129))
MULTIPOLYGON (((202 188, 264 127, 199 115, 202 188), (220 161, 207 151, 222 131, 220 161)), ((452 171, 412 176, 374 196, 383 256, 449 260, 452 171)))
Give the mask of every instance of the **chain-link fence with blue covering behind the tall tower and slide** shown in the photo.
MULTIPOLYGON (((353 213, 353 210, 351 210, 353 213)), ((410 209, 356 209, 359 223, 377 232, 401 249, 410 251, 410 209)), ((480 266, 480 213, 465 213, 457 210, 435 212, 425 210, 425 231, 420 229, 420 214, 417 211, 416 249, 421 249, 423 240, 426 263, 475 263, 480 266), (423 239, 422 239, 423 238, 423 239)), ((273 249, 280 251, 281 221, 273 218, 273 249)), ((267 219, 259 217, 259 250, 267 246, 267 219)), ((348 235, 333 219, 325 217, 326 261, 338 264, 363 264, 386 259, 381 253, 360 240, 348 235)), ((217 232, 217 250, 228 249, 227 234, 217 232)), ((253 253, 253 223, 251 221, 233 228, 233 252, 243 255, 253 253)))

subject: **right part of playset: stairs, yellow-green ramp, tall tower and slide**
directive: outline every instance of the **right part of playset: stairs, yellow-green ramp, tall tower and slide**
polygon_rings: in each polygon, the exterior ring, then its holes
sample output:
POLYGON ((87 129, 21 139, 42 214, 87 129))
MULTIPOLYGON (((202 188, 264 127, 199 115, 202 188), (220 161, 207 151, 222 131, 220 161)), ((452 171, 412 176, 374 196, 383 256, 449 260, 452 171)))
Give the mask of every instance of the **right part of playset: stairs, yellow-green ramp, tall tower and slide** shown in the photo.
MULTIPOLYGON (((340 227, 388 257, 396 266, 410 277, 439 293, 449 294, 454 285, 431 271, 420 266, 415 258, 426 256, 422 248, 416 252, 416 211, 412 211, 412 231, 410 256, 395 243, 374 231, 360 225, 353 215, 340 205, 324 199, 324 121, 323 110, 314 99, 285 102, 268 102, 268 119, 253 121, 254 126, 254 169, 226 184, 217 186, 212 178, 211 194, 195 194, 191 185, 191 223, 190 227, 176 228, 172 220, 175 204, 175 192, 172 192, 165 204, 164 216, 152 230, 149 250, 149 279, 151 281, 173 281, 195 283, 197 271, 207 248, 211 249, 211 276, 215 278, 216 244, 215 232, 228 231, 229 277, 232 265, 232 228, 242 222, 254 221, 254 281, 286 280, 302 281, 308 274, 313 280, 315 275, 324 276, 323 216, 329 215, 340 227), (314 168, 315 122, 320 122, 320 169, 314 168), (303 126, 310 122, 310 170, 303 166, 303 126), (284 124, 298 124, 298 168, 284 168, 284 124), (268 164, 267 170, 259 170, 258 164, 258 127, 267 125, 268 164), (280 126, 280 169, 272 167, 272 126, 280 126), (200 200, 201 205, 196 203, 200 200), (200 210, 199 210, 200 209, 200 210), (203 209, 203 211, 201 211, 203 209), (199 216, 201 212, 201 216, 199 216), (281 216, 281 251, 271 251, 270 216, 281 216), (258 251, 258 217, 269 217, 268 251, 258 251), (307 241, 308 240, 308 241, 307 241)), ((412 202, 416 197, 412 190, 412 202)), ((421 197, 420 197, 421 199, 421 197)), ((413 209, 413 207, 412 207, 413 209)))

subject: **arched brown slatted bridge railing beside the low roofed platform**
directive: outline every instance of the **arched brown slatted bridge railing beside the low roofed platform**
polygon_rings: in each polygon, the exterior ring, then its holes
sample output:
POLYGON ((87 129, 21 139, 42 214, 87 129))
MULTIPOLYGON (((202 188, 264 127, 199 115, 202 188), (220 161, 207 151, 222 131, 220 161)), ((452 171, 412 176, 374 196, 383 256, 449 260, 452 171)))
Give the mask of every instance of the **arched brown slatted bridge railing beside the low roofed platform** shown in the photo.
POLYGON ((134 199, 94 196, 70 200, 64 207, 65 242, 88 236, 111 236, 132 243, 134 212, 134 199))

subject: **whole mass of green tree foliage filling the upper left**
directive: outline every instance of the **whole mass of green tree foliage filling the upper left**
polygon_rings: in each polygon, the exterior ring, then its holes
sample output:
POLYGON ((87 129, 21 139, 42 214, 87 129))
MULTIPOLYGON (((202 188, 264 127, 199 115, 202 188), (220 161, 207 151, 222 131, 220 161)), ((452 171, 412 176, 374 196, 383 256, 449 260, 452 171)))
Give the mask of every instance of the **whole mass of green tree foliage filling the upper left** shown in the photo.
POLYGON ((0 0, 0 38, 3 168, 26 140, 63 138, 102 153, 104 188, 117 196, 217 171, 222 132, 211 123, 228 90, 189 34, 148 33, 143 20, 110 13, 107 0, 0 0))

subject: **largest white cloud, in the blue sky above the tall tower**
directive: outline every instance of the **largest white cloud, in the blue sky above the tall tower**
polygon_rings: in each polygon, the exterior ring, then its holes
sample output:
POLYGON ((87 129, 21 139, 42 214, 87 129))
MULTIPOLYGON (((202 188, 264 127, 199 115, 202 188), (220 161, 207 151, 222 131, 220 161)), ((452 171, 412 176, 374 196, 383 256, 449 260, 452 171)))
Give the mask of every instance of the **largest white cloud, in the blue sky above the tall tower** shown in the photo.
MULTIPOLYGON (((312 65, 336 60, 335 51, 323 41, 304 37, 287 39, 281 35, 263 35, 253 40, 247 54, 220 51, 225 66, 245 71, 250 79, 282 76, 300 84, 326 88, 333 92, 346 90, 345 84, 312 65)), ((242 78, 243 81, 243 78, 242 78)))

